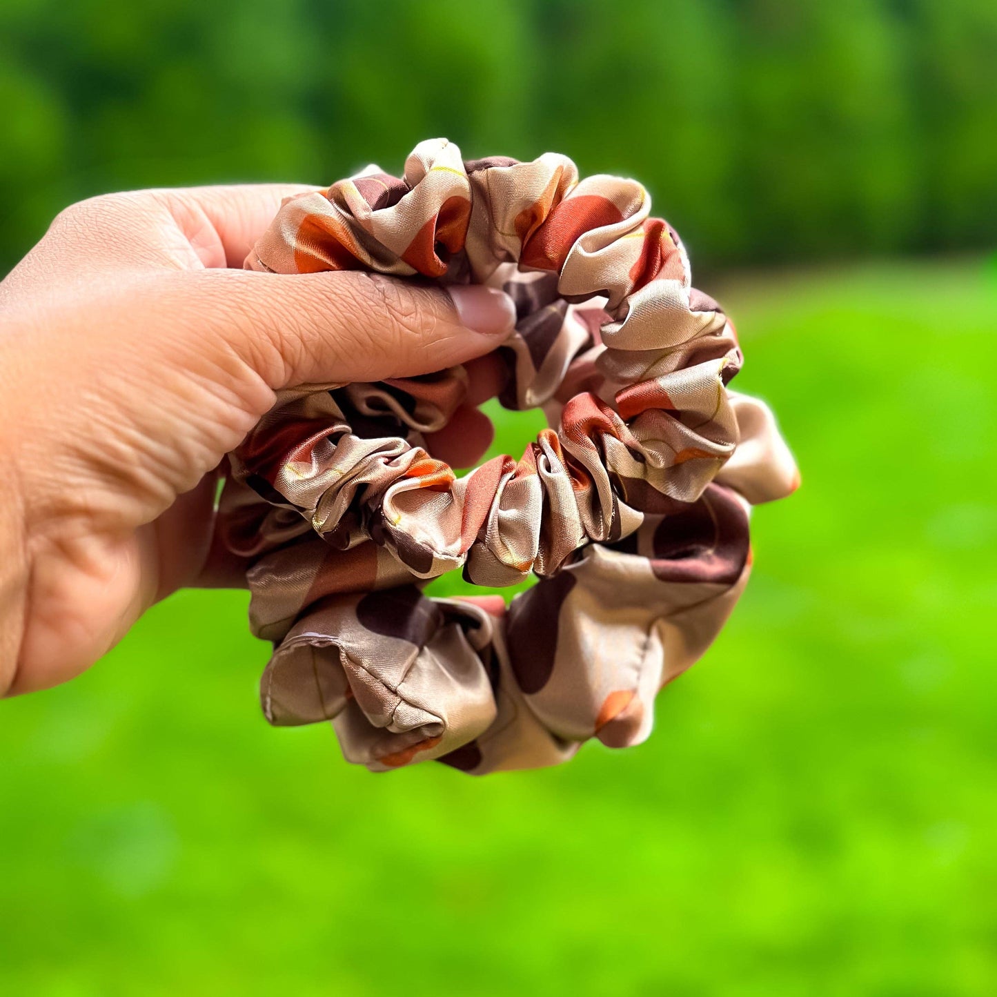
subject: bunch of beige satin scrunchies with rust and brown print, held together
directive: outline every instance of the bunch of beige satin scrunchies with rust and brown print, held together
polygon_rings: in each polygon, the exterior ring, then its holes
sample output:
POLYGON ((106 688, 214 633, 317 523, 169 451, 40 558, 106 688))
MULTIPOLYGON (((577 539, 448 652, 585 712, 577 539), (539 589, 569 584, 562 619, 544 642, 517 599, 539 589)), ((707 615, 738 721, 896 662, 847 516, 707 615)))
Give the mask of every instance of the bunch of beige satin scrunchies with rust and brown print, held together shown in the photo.
POLYGON ((464 369, 284 391, 230 455, 228 546, 271 640, 272 724, 331 720, 351 762, 552 765, 650 733, 658 690, 707 648, 751 563, 753 503, 797 471, 773 416, 727 387, 734 326, 692 289, 641 184, 574 164, 464 162, 421 143, 281 207, 255 270, 487 283, 515 301, 506 408, 550 426, 466 478, 433 458, 464 369), (490 612, 421 586, 453 568, 538 582, 490 612))

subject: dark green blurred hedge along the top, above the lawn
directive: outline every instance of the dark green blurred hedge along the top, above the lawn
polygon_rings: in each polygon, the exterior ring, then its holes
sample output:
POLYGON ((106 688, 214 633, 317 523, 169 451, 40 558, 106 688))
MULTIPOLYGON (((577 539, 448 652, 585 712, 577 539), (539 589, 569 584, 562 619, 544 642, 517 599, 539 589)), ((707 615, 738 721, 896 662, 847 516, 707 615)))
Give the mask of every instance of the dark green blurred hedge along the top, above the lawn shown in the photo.
POLYGON ((421 139, 639 177, 702 267, 993 244, 993 0, 4 0, 0 270, 66 203, 421 139))

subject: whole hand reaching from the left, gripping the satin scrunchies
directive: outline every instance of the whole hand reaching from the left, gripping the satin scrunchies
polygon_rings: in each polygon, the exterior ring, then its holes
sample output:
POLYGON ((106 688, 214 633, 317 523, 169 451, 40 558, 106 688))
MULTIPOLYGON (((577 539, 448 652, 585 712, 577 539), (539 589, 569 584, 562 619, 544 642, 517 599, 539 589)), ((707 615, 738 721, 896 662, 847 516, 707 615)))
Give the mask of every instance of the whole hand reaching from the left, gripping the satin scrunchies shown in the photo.
MULTIPOLYGON (((62 212, 0 283, 0 694, 79 674, 154 602, 230 579, 212 543, 218 466, 297 384, 440 370, 494 350, 510 299, 363 272, 242 260, 282 197, 265 185, 147 190, 62 212)), ((429 441, 474 463, 474 404, 429 441)))

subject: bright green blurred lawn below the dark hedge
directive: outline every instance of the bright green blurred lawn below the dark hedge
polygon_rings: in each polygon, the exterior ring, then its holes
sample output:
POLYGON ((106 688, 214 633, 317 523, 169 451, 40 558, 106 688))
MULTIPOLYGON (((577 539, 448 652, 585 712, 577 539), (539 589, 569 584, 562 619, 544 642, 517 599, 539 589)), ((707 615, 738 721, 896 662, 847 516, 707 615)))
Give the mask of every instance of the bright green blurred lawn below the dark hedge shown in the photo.
POLYGON ((182 593, 0 705, 0 991, 997 992, 993 266, 710 289, 804 486, 646 745, 373 776, 182 593))

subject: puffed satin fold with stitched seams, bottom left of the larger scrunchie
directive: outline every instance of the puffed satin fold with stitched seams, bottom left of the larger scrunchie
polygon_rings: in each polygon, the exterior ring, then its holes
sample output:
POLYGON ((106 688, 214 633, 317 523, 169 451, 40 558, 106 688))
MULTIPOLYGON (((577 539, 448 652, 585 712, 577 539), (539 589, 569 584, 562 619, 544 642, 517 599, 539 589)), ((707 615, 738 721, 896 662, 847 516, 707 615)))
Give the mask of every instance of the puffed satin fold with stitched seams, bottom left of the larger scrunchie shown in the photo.
POLYGON ((327 597, 279 643, 263 712, 277 726, 331 720, 344 756, 372 769, 439 758, 496 717, 476 649, 490 630, 488 617, 411 585, 327 597))

